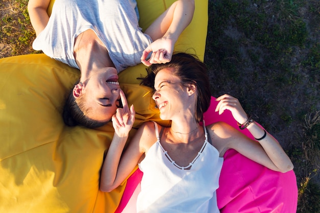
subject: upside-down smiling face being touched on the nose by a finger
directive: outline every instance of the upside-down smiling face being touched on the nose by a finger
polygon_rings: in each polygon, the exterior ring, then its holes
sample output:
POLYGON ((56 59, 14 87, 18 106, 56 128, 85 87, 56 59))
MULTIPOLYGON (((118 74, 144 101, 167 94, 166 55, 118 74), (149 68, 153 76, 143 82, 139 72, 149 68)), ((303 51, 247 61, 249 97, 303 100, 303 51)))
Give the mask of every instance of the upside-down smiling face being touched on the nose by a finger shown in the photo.
POLYGON ((82 94, 86 105, 92 110, 86 114, 96 121, 109 121, 120 105, 119 82, 117 70, 106 67, 84 82, 82 94))

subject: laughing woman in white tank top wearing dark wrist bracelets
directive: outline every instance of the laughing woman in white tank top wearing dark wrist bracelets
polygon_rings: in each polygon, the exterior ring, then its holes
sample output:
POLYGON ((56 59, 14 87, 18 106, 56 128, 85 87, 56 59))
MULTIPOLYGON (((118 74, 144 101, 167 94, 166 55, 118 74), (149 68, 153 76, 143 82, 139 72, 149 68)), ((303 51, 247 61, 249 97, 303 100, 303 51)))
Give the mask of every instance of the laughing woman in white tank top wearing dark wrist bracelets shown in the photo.
MULTIPOLYGON (((153 99, 161 119, 171 120, 171 127, 145 123, 122 155, 134 110, 127 104, 118 109, 112 116, 115 136, 102 167, 102 191, 116 188, 139 163, 144 175, 137 212, 219 212, 216 190, 228 149, 271 170, 284 173, 293 169, 279 143, 227 94, 217 98, 216 111, 230 110, 239 127, 247 128, 258 142, 223 122, 200 126, 211 98, 202 62, 180 53, 173 55, 171 62, 153 64, 150 69, 144 82, 154 79, 153 99)), ((123 99, 123 93, 121 96, 123 99)))

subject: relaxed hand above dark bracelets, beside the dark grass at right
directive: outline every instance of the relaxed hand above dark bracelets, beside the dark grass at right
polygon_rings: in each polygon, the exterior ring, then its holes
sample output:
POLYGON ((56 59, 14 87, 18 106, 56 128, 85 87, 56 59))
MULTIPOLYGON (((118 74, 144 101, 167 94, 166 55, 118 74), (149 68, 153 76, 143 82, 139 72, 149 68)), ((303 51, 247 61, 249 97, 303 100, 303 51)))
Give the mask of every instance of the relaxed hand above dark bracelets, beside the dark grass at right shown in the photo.
POLYGON ((222 114, 225 109, 228 109, 232 112, 234 119, 239 124, 243 124, 248 120, 248 116, 243 110, 238 99, 228 94, 224 94, 223 96, 217 98, 216 101, 219 101, 219 103, 215 111, 219 112, 219 114, 222 114))

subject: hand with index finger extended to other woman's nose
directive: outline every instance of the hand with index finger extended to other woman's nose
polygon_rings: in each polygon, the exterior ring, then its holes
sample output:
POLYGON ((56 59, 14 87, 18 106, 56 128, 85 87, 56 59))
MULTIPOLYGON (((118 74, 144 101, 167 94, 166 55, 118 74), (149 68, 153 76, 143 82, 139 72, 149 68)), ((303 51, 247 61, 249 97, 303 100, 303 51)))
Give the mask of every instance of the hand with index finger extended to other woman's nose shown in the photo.
POLYGON ((135 111, 133 105, 128 107, 124 92, 120 89, 120 98, 123 108, 118 108, 116 114, 112 116, 112 126, 118 136, 128 136, 134 123, 135 111))

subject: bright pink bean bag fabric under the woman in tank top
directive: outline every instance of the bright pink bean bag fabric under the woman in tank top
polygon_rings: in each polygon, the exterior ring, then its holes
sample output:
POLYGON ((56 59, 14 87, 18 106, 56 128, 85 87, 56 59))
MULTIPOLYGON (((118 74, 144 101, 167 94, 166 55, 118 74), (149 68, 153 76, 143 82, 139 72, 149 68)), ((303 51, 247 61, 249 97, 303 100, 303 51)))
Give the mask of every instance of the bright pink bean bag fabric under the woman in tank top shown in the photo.
MULTIPOLYGON (((217 103, 212 97, 210 108, 204 113, 205 125, 223 121, 239 130, 230 111, 225 110, 221 115, 215 112, 217 103)), ((253 138, 248 130, 239 131, 253 138)), ((217 190, 221 213, 296 212, 298 187, 293 171, 280 173, 269 170, 235 150, 228 150, 223 157, 217 190)), ((135 200, 142 175, 138 169, 128 179, 117 213, 136 211, 135 200)))

